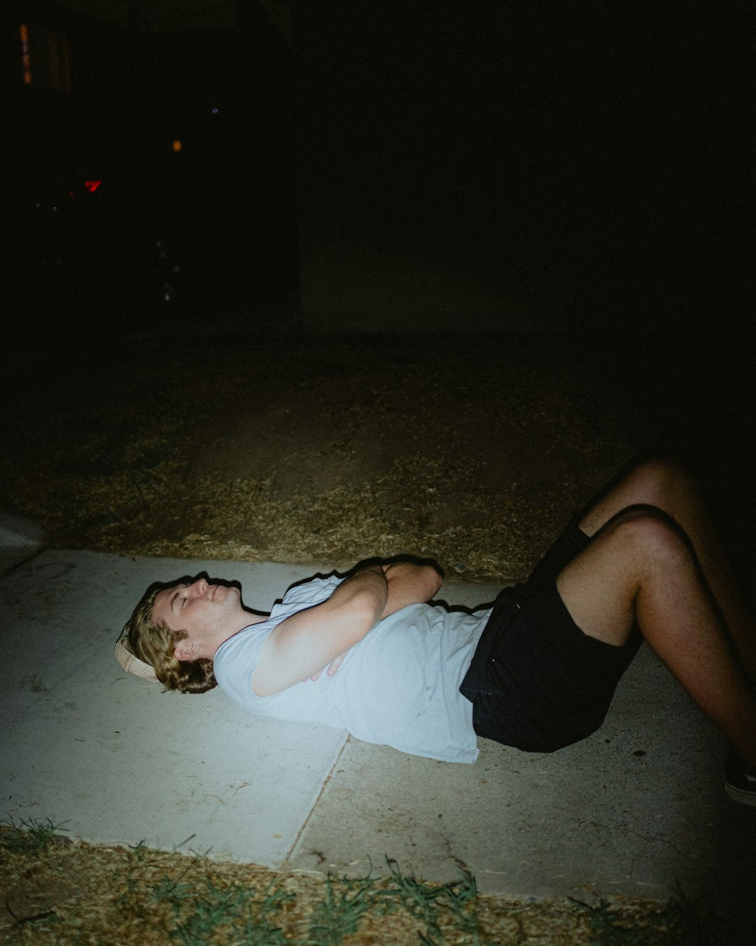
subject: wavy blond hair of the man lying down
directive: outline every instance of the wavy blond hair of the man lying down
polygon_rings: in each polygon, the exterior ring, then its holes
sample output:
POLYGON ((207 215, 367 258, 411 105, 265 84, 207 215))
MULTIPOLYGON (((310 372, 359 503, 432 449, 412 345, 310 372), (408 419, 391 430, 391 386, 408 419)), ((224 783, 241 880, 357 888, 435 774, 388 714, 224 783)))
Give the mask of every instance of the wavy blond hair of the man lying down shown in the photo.
POLYGON ((172 631, 167 624, 155 622, 152 618, 155 598, 164 587, 147 588, 144 598, 134 608, 125 628, 129 650, 134 657, 139 657, 154 669, 163 684, 163 692, 204 693, 212 690, 217 686, 213 661, 206 657, 177 659, 174 649, 179 640, 187 637, 186 631, 172 631))

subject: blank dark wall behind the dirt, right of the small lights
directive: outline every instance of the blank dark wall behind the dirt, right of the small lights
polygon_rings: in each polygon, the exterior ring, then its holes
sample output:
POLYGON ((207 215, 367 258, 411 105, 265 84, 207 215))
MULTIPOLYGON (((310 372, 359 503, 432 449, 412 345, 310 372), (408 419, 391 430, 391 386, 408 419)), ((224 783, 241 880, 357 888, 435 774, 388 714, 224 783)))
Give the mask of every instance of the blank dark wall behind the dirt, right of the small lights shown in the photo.
POLYGON ((391 300, 450 329, 688 332, 741 309, 743 9, 297 7, 305 299, 326 310, 340 280, 336 324, 391 300))

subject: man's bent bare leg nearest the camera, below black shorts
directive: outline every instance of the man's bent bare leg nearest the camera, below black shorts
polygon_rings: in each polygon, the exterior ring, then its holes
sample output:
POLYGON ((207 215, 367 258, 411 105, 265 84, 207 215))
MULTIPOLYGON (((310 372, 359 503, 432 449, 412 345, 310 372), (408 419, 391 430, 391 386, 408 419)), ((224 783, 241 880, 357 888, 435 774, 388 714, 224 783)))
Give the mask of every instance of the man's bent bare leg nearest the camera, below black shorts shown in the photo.
POLYGON ((621 645, 637 622, 698 706, 756 765, 756 691, 674 522, 658 509, 620 512, 562 570, 557 587, 592 637, 621 645))

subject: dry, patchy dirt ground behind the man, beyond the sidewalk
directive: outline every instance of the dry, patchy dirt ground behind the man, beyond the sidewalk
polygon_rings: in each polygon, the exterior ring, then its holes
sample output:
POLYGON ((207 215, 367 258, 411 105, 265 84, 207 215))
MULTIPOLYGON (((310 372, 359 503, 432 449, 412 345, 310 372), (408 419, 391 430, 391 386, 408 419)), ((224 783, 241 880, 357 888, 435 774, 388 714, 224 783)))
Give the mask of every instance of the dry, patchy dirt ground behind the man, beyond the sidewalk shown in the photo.
POLYGON ((747 532, 747 449, 728 434, 743 396, 728 403, 716 363, 573 336, 34 350, 7 366, 0 506, 59 547, 334 567, 412 552, 518 578, 644 447, 725 483, 747 532))

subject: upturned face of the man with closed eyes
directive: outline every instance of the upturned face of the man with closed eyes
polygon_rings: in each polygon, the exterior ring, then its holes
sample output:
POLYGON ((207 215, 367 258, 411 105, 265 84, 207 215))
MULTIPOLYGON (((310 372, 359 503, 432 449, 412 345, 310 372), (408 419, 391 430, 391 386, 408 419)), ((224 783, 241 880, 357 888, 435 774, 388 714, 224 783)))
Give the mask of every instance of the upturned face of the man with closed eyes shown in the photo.
POLYGON ((187 639, 200 645, 197 657, 212 657, 225 639, 249 623, 249 612, 242 607, 238 588, 198 578, 191 585, 158 592, 152 619, 172 631, 186 631, 187 639))

